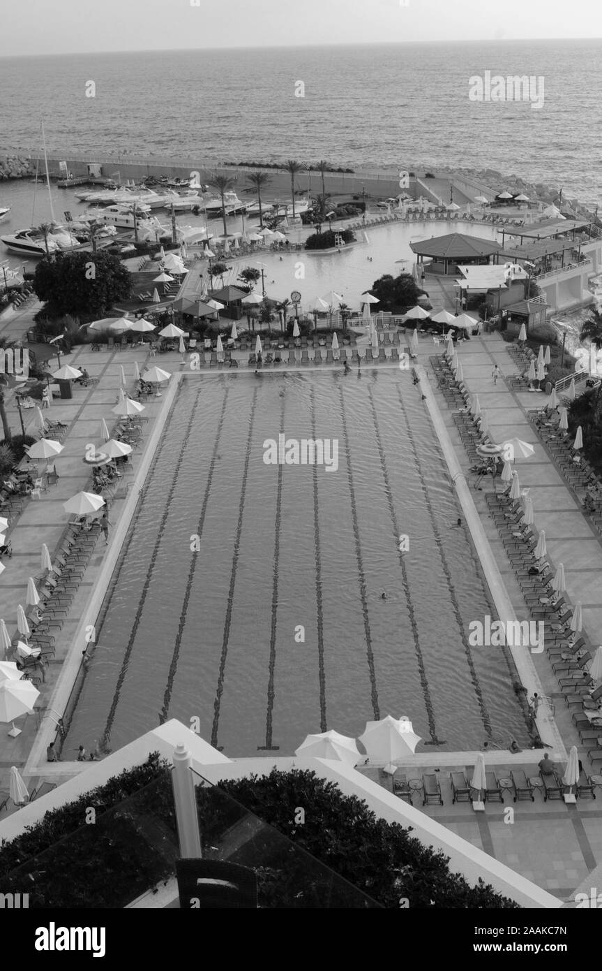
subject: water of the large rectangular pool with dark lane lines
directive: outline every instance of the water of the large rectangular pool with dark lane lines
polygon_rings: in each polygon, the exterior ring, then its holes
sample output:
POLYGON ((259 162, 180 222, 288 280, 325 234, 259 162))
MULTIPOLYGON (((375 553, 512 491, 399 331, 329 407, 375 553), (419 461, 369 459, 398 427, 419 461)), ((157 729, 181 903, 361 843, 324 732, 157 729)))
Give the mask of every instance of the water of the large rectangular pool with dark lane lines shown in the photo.
POLYGON ((492 611, 457 517, 406 373, 184 380, 67 748, 176 718, 231 756, 291 754, 387 714, 445 750, 525 742, 506 654, 467 644, 492 611), (337 442, 338 468, 266 464, 281 433, 337 442))

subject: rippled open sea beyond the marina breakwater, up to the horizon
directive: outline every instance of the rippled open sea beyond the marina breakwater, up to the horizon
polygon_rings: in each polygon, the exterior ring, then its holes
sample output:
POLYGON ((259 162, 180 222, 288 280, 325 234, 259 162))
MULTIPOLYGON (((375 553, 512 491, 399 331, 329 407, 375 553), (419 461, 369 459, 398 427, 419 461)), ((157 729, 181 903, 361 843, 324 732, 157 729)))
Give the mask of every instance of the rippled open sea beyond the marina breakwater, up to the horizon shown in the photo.
POLYGON ((48 150, 67 156, 491 168, 595 205, 601 53, 571 40, 8 57, 0 139, 37 148, 44 118, 48 150), (469 101, 486 70, 543 78, 543 108, 469 101))

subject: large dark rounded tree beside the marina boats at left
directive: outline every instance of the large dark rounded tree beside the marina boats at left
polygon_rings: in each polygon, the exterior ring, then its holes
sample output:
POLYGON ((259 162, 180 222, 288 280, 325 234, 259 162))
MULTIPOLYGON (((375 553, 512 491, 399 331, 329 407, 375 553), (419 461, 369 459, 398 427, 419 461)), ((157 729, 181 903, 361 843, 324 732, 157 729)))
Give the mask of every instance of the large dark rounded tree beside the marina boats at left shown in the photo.
POLYGON ((97 314, 111 310, 132 294, 132 278, 121 261, 106 251, 58 252, 45 256, 34 274, 33 288, 46 303, 49 317, 97 314))

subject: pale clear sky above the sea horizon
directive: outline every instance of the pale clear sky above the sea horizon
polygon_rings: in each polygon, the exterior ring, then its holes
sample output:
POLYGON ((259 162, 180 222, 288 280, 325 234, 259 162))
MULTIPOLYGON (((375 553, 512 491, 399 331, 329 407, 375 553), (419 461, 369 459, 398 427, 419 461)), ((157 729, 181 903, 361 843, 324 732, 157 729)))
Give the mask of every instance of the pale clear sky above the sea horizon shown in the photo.
POLYGON ((0 56, 584 37, 600 0, 0 0, 0 56))

